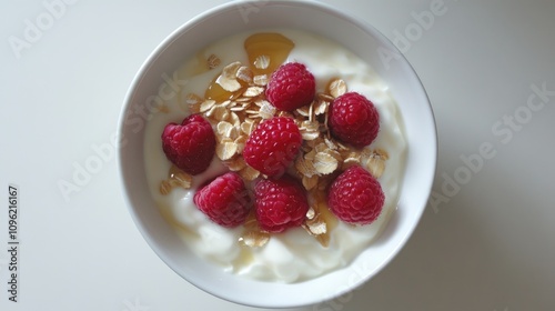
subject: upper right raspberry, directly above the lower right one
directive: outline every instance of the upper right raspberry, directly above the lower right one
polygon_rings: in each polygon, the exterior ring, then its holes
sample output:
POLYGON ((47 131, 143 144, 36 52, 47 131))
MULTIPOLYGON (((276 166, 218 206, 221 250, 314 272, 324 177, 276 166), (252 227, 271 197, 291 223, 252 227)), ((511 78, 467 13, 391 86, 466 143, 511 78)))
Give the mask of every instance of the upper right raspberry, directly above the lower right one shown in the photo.
POLYGON ((377 137, 380 114, 369 99, 356 92, 347 92, 330 106, 330 130, 343 142, 362 148, 377 137))

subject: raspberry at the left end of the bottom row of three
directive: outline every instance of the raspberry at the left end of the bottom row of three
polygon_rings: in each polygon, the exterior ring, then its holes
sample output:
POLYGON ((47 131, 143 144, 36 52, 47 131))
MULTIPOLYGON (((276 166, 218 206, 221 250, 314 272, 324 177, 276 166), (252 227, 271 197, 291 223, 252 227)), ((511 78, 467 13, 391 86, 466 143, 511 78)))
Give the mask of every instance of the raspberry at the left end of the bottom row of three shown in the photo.
POLYGON ((198 190, 194 203, 213 222, 233 228, 245 221, 252 201, 241 177, 229 172, 198 190))

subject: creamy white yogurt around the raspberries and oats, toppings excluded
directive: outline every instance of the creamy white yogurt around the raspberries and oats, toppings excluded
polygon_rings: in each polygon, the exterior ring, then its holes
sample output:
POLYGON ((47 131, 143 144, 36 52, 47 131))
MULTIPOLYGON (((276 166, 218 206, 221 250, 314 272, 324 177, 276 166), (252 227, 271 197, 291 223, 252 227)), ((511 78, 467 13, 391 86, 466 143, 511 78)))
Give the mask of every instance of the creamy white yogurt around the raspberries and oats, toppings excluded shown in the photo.
MULTIPOLYGON (((396 209, 406 156, 406 141, 396 103, 390 97, 387 86, 367 63, 343 47, 321 37, 293 30, 272 31, 284 34, 295 43, 287 61, 306 64, 316 78, 317 92, 324 91, 332 78, 341 78, 346 82, 349 91, 364 94, 376 106, 381 118, 381 129, 371 147, 384 149, 390 156, 386 169, 379 179, 385 194, 384 208, 379 219, 364 227, 346 225, 340 221, 339 225, 331 231, 327 248, 322 247, 302 228, 274 234, 262 248, 243 248, 238 243, 243 231, 242 227, 226 229, 211 222, 196 209, 192 200, 199 184, 225 172, 225 168, 216 158, 206 172, 194 177, 192 189, 173 189, 168 195, 159 192, 160 182, 168 178, 171 167, 162 151, 160 137, 163 128, 169 122, 180 123, 188 116, 189 112, 183 109, 186 107, 185 96, 192 92, 202 97, 209 82, 222 70, 223 66, 238 60, 248 64, 243 43, 244 39, 253 32, 236 34, 205 48, 203 50, 205 58, 213 53, 222 60, 220 67, 209 72, 191 77, 189 72, 196 67, 195 59, 184 62, 178 69, 179 79, 188 80, 188 83, 182 87, 179 94, 165 101, 170 113, 151 114, 145 128, 144 164, 152 197, 158 208, 182 237, 184 247, 231 273, 263 281, 297 282, 341 269, 362 250, 372 247, 373 239, 380 234, 396 209)), ((168 93, 170 93, 170 87, 175 86, 162 86, 162 88, 168 88, 168 93)))

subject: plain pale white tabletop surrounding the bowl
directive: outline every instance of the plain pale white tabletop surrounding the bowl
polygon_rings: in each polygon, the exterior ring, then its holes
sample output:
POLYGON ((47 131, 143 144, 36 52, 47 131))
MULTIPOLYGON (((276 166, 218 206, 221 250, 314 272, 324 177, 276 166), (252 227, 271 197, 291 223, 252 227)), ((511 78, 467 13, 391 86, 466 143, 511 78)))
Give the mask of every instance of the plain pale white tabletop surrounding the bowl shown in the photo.
MULTIPOLYGON (((123 203, 111 144, 149 53, 223 2, 0 4, 0 310, 255 310, 198 290, 154 254, 123 203)), ((352 294, 294 310, 554 310, 555 1, 323 2, 403 51, 432 101, 440 157, 433 201, 394 261, 352 294)))

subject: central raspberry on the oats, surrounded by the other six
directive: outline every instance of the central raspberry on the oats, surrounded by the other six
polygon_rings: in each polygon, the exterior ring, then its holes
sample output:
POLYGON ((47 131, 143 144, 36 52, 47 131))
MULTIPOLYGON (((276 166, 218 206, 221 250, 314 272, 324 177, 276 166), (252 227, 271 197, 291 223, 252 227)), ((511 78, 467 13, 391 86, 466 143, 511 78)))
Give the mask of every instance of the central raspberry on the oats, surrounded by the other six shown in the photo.
POLYGON ((260 123, 243 149, 245 162, 269 177, 283 174, 299 153, 303 138, 295 121, 274 117, 260 123))

